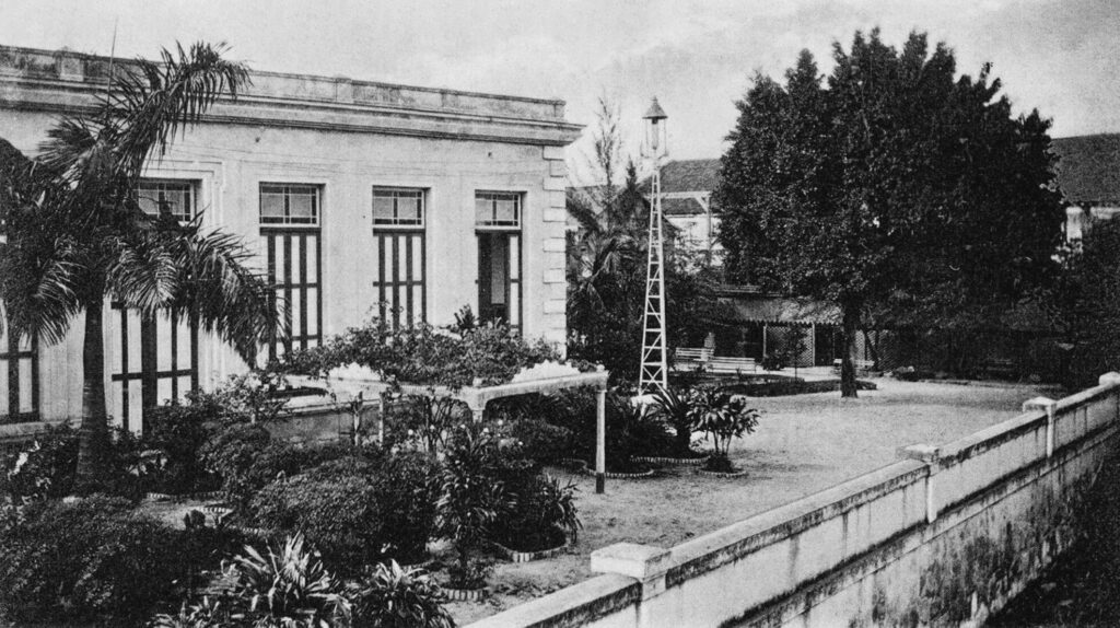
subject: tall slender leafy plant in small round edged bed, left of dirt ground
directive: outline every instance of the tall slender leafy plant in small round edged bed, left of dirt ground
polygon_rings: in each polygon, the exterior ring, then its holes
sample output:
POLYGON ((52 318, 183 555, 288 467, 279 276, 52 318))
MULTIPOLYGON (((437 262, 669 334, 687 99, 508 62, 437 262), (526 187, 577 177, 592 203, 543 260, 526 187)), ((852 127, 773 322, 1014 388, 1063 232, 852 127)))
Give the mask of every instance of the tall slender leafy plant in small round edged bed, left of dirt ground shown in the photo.
POLYGON ((436 512, 439 534, 455 546, 455 563, 447 570, 450 599, 485 593, 491 565, 482 545, 505 500, 505 487, 491 472, 496 456, 495 434, 475 424, 459 425, 447 448, 436 512))

